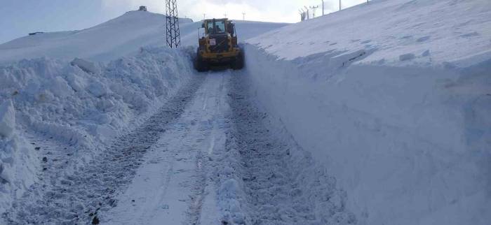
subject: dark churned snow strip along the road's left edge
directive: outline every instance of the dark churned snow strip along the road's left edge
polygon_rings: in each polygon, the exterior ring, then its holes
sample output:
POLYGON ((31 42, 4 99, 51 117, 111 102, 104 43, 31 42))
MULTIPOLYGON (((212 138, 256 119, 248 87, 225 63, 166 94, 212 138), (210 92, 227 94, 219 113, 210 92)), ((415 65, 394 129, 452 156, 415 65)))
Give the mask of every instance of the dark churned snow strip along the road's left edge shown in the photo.
POLYGON ((101 211, 114 207, 115 196, 132 180, 142 157, 180 117, 205 76, 184 85, 147 122, 117 138, 99 157, 72 175, 34 185, 2 217, 8 224, 90 224, 101 211))

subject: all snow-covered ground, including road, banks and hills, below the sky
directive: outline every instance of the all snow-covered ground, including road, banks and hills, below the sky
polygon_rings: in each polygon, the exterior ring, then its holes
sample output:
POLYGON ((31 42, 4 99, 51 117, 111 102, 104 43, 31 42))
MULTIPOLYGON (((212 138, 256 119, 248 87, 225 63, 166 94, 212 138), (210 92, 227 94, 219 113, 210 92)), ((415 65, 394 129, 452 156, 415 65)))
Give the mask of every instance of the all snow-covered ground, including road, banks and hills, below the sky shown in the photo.
POLYGON ((164 22, 0 45, 0 224, 491 221, 487 0, 237 21, 247 68, 204 74, 164 22))

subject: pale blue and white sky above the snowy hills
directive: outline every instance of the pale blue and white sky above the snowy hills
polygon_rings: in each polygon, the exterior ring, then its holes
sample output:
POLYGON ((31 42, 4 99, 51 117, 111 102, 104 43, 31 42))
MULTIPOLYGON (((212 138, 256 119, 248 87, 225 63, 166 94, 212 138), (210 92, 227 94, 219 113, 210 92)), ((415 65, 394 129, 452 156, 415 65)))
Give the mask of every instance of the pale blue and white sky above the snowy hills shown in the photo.
MULTIPOLYGON (((339 0, 324 0, 325 13, 339 8, 339 0)), ((93 27, 138 6, 164 13, 164 0, 0 0, 0 43, 36 31, 69 31, 93 27)), ((365 0, 342 0, 347 8, 365 0)), ((303 6, 321 0, 177 0, 180 17, 229 17, 234 20, 299 22, 303 6), (245 13, 245 15, 243 15, 245 13)), ((316 15, 321 15, 319 7, 316 15)))

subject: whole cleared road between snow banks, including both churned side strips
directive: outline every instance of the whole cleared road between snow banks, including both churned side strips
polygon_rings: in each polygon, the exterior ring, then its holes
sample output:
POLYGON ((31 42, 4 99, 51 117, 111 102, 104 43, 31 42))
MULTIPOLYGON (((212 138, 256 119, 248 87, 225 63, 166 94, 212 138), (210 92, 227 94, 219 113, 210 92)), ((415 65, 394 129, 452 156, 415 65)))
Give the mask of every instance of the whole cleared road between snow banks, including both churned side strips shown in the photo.
POLYGON ((243 72, 196 75, 73 175, 37 185, 10 224, 354 224, 345 194, 248 92, 243 72))

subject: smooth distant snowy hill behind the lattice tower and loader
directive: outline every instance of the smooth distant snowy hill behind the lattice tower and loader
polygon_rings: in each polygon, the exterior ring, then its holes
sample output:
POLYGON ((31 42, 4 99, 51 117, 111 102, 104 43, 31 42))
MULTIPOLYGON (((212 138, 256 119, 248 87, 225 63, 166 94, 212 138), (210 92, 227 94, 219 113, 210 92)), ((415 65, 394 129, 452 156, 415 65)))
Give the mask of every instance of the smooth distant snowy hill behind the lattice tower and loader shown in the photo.
MULTIPOLYGON (((18 38, 0 45, 0 64, 20 59, 50 57, 71 60, 110 61, 135 54, 142 46, 159 46, 165 41, 165 16, 130 11, 114 20, 81 31, 62 31, 18 38)), ((286 24, 238 21, 239 38, 245 40, 286 24)), ((197 45, 201 22, 180 20, 182 45, 197 45)))

